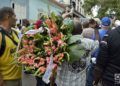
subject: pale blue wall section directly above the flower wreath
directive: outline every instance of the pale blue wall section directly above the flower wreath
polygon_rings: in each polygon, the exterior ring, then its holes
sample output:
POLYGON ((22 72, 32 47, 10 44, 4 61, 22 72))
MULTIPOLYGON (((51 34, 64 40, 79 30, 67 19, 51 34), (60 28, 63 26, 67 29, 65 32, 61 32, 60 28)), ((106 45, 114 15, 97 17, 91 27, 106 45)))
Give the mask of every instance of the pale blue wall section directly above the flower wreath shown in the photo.
POLYGON ((39 13, 48 14, 48 5, 50 11, 55 13, 61 12, 63 9, 49 2, 49 0, 29 0, 29 19, 37 20, 39 13))

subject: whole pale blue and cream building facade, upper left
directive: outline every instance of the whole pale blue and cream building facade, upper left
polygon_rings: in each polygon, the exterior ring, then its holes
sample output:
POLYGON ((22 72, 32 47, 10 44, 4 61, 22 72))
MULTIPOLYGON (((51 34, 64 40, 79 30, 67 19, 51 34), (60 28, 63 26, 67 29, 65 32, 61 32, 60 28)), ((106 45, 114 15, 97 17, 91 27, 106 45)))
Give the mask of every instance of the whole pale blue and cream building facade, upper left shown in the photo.
POLYGON ((35 21, 39 19, 41 13, 59 13, 64 8, 55 0, 0 0, 0 8, 8 6, 14 8, 17 19, 29 19, 35 21))

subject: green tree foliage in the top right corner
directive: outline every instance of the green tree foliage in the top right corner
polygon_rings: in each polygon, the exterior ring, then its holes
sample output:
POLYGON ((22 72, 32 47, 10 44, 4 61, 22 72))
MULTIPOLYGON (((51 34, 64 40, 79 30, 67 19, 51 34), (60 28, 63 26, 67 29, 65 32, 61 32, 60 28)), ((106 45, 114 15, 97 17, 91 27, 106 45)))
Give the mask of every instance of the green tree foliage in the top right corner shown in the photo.
POLYGON ((116 17, 120 19, 120 0, 85 0, 83 5, 85 13, 92 15, 92 9, 99 7, 97 17, 103 17, 108 14, 115 13, 116 17))

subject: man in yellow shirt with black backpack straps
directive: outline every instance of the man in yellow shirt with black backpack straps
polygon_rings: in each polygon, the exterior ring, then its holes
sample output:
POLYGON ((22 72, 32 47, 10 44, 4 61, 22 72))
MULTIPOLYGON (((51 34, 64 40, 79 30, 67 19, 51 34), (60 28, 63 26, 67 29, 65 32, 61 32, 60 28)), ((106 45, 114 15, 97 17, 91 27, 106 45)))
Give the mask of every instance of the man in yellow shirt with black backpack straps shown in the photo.
POLYGON ((13 63, 19 39, 15 30, 16 15, 10 7, 0 9, 0 86, 21 86, 21 66, 13 63))

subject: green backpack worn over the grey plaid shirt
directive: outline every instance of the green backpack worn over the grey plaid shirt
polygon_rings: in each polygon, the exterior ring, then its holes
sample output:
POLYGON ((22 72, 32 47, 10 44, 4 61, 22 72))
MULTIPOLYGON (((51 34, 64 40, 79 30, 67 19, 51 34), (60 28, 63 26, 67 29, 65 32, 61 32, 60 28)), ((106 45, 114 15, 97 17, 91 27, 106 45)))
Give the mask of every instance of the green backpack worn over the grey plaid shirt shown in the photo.
POLYGON ((82 58, 86 58, 89 54, 89 51, 86 50, 83 39, 80 35, 73 35, 68 40, 68 53, 70 55, 69 63, 73 63, 75 61, 81 60, 82 58))

